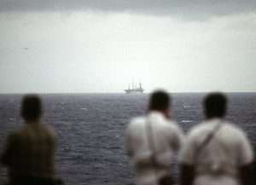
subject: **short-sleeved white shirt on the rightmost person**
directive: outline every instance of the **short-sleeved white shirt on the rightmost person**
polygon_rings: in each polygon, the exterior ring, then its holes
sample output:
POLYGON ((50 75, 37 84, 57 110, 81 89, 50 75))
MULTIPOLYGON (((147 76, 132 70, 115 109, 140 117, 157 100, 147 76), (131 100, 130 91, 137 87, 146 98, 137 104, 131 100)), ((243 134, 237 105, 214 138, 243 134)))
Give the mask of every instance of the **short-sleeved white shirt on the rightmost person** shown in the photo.
POLYGON ((253 150, 241 129, 224 120, 211 119, 190 131, 180 162, 195 166, 195 185, 238 185, 238 167, 253 162, 253 150), (222 126, 198 153, 201 142, 217 124, 222 126))

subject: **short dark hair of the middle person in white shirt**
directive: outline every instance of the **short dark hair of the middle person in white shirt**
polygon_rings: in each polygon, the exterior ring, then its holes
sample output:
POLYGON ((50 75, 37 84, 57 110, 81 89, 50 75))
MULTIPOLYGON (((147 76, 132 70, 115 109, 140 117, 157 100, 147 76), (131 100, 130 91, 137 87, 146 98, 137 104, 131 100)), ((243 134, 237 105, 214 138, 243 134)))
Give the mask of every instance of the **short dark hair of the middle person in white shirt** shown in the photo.
POLYGON ((162 111, 169 108, 171 96, 164 90, 156 90, 150 96, 149 110, 162 111))

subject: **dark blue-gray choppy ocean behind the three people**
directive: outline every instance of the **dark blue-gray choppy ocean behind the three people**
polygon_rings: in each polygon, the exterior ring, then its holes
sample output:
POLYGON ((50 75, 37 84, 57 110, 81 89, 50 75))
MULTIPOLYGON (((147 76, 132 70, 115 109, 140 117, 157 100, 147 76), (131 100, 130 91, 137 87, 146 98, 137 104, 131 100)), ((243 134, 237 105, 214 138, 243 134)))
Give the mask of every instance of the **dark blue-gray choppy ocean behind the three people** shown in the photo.
MULTIPOLYGON (((204 95, 172 94, 172 119, 185 133, 203 119, 204 95)), ((0 152, 9 132, 22 125, 21 97, 0 95, 0 152)), ((123 150, 123 134, 131 118, 146 113, 147 94, 49 94, 41 97, 43 121, 55 129, 57 136, 57 174, 67 185, 134 184, 134 171, 123 150)), ((245 130, 256 146, 256 93, 230 93, 228 97, 226 119, 245 130)), ((6 170, 0 166, 0 183, 5 181, 6 170)))

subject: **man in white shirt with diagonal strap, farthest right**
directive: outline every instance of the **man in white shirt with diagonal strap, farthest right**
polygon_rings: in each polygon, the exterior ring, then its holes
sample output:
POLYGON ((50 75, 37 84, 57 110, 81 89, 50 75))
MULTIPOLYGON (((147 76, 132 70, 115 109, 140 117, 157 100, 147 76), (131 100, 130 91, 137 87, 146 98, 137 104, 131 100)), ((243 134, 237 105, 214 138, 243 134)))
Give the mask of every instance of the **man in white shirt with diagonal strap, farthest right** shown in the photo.
POLYGON ((250 185, 253 150, 246 134, 224 120, 227 98, 204 100, 206 120, 190 132, 180 153, 181 185, 250 185))

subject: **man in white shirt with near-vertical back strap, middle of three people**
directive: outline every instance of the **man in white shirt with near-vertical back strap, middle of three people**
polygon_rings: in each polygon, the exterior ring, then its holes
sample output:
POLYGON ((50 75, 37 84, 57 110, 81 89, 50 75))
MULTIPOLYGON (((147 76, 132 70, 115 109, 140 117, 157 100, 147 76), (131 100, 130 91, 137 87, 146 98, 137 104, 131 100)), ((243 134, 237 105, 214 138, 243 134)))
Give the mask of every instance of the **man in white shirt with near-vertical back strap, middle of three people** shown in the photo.
POLYGON ((125 149, 135 165, 137 185, 172 183, 172 157, 182 146, 183 132, 170 120, 170 99, 165 91, 155 91, 148 114, 132 119, 125 130, 125 149))

